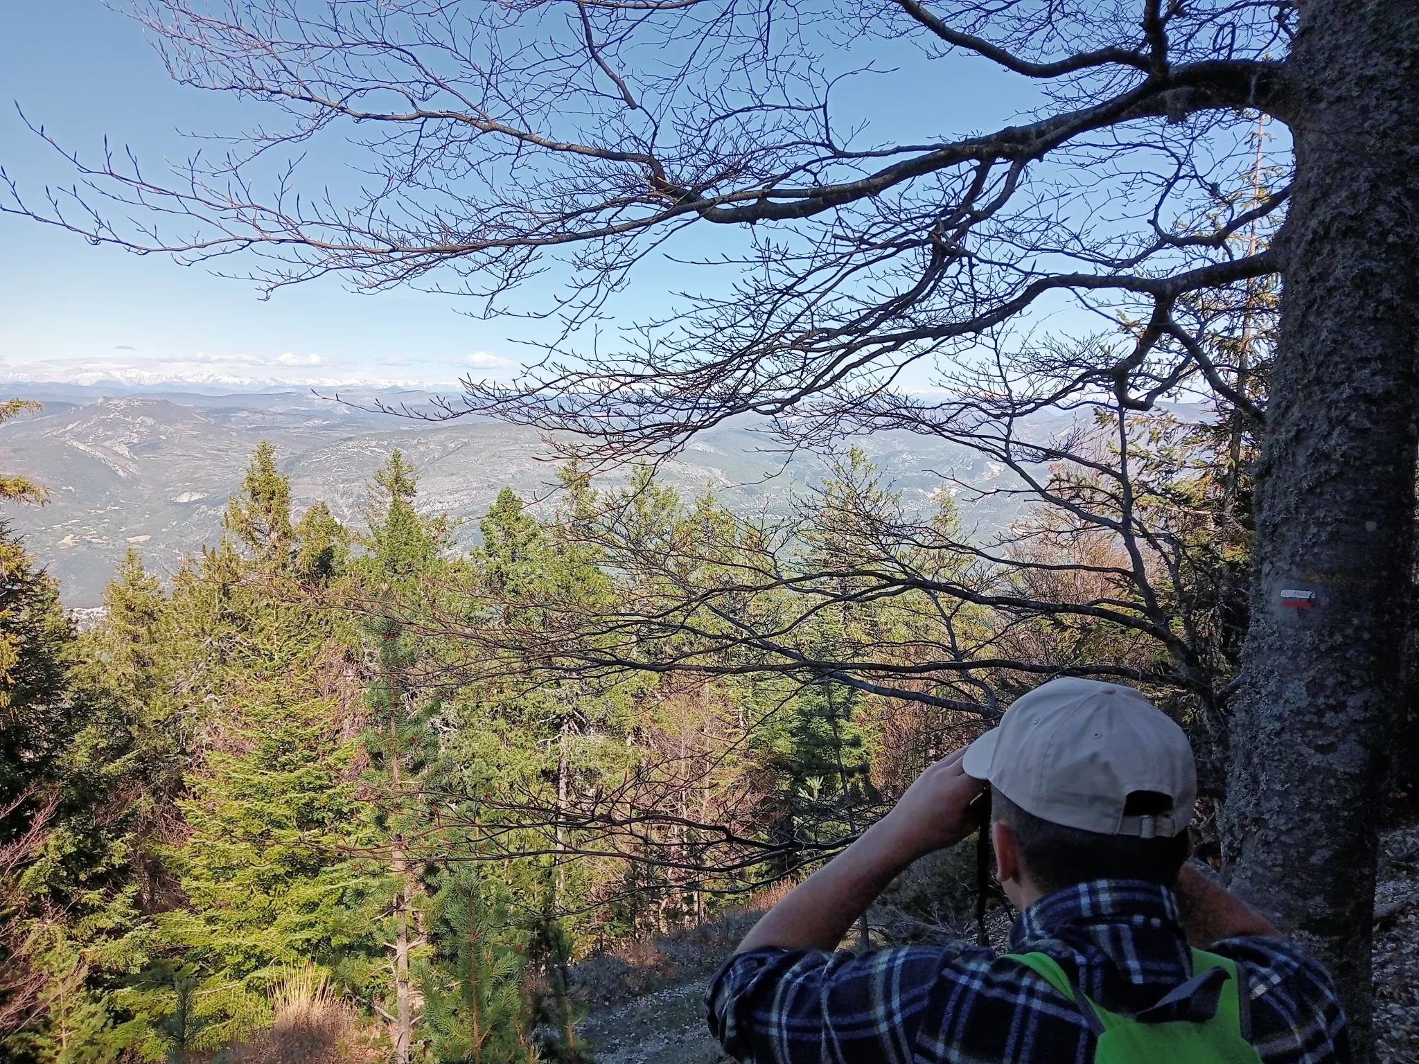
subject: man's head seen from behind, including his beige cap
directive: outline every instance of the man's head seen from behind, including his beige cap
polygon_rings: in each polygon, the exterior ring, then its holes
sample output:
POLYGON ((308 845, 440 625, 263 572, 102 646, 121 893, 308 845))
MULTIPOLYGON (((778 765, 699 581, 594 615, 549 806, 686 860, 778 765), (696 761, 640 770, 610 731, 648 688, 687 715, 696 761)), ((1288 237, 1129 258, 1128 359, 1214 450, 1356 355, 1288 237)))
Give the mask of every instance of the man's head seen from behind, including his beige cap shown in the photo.
POLYGON ((1121 684, 1053 680, 966 750, 990 782, 1000 882, 1017 905, 1098 878, 1171 884, 1198 783, 1182 729, 1121 684))

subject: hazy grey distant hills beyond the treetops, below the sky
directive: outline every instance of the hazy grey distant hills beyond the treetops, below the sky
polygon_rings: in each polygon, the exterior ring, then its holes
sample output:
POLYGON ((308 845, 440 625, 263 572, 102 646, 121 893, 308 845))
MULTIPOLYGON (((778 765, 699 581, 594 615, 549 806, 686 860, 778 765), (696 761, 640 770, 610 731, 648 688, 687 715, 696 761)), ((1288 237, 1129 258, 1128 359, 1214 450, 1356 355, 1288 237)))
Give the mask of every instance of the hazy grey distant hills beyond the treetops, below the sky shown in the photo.
MULTIPOLYGON (((291 477, 297 516, 316 499, 342 521, 358 522, 365 484, 389 453, 402 448, 420 475, 419 505, 470 518, 460 535, 475 536, 498 491, 545 497, 555 465, 541 460, 546 441, 532 428, 488 420, 427 423, 370 413, 311 393, 148 393, 104 396, 98 389, 3 386, 43 401, 37 416, 0 426, 0 471, 23 472, 50 488, 44 506, 11 504, 6 518, 61 582, 70 607, 94 607, 128 548, 170 576, 179 560, 221 532, 221 512, 237 489, 257 443, 271 440, 291 477)), ((427 392, 380 393, 420 404, 427 392)), ((352 396, 368 404, 375 393, 352 396)), ((927 505, 954 471, 979 487, 1003 487, 1005 471, 965 448, 905 433, 858 441, 904 492, 927 505)), ((823 460, 769 453, 771 443, 745 427, 695 437, 660 475, 687 495, 705 488, 741 511, 785 512, 790 495, 817 484, 823 460)), ((610 474, 616 482, 627 470, 610 474)), ((965 514, 979 532, 1007 523, 1017 508, 993 499, 965 514)))

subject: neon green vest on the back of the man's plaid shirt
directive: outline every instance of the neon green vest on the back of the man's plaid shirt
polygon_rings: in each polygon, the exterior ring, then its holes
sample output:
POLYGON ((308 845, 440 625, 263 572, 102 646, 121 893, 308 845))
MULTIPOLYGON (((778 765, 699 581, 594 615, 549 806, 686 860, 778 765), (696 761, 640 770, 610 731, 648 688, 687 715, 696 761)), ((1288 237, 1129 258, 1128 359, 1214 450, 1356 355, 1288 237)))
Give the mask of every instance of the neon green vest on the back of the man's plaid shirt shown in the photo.
MULTIPOLYGON (((1009 953, 1010 959, 1034 969, 1050 986, 1076 1004, 1083 997, 1069 976, 1046 953, 1009 953)), ((1218 1010, 1210 1020, 1139 1023, 1128 1016, 1100 1009, 1084 997, 1084 1019, 1098 1038, 1094 1064, 1260 1064, 1261 1055, 1242 1036, 1242 1004, 1235 960, 1192 951, 1195 976, 1213 968, 1226 969, 1218 1010), (1093 1023, 1091 1020, 1095 1020, 1093 1023)))

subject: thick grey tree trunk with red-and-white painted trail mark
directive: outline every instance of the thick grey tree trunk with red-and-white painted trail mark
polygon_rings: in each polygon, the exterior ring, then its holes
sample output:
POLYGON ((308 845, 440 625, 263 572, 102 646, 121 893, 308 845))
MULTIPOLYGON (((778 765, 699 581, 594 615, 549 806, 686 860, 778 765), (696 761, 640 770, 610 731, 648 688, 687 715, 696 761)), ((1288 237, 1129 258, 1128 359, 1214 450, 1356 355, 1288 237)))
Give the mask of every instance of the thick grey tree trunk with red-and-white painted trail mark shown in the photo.
POLYGON ((1233 890, 1330 968, 1366 1060, 1415 526, 1419 4, 1300 10, 1297 179, 1223 846, 1233 890))

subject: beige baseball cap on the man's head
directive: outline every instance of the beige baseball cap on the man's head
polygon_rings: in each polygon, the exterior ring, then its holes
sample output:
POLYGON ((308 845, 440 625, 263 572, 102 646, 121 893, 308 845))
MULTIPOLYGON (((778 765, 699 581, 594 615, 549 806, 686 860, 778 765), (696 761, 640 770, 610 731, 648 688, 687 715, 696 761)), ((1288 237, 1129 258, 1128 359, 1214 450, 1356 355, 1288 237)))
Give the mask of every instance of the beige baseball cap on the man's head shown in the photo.
POLYGON ((1175 836, 1198 800, 1182 728, 1134 688, 1097 680, 1051 680, 1020 695, 961 767, 1026 813, 1105 836, 1175 836), (1137 790, 1166 794, 1172 809, 1125 816, 1137 790))

